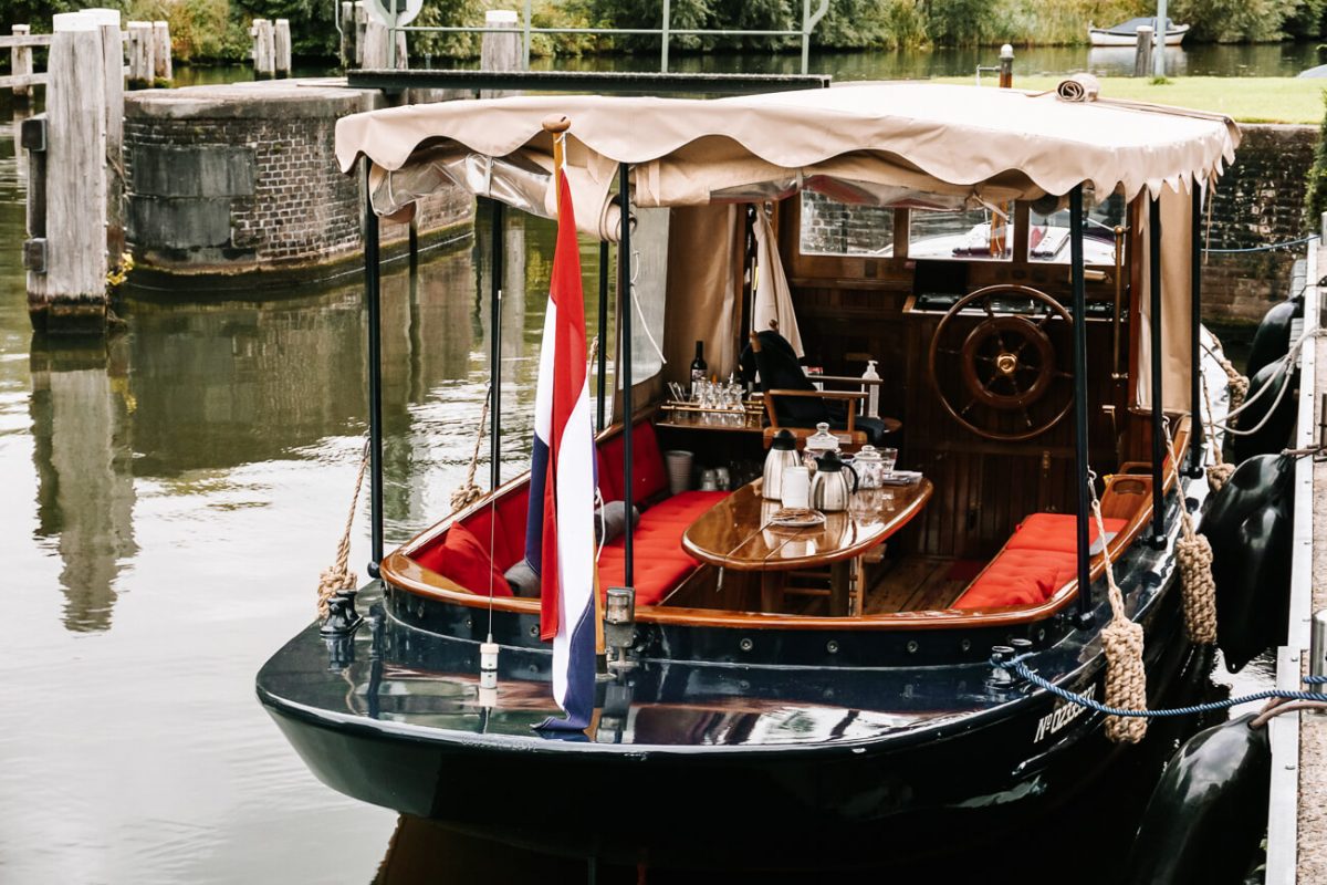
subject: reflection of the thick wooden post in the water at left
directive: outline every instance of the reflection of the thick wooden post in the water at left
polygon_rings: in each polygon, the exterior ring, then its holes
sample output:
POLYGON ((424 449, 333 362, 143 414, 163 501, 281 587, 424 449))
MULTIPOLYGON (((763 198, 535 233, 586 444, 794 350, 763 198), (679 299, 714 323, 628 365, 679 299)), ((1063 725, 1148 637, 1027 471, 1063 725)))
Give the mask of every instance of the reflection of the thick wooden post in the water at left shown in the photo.
POLYGON ((64 624, 77 633, 110 628, 115 581, 134 543, 134 479, 127 342, 33 341, 33 462, 38 539, 64 568, 64 624))

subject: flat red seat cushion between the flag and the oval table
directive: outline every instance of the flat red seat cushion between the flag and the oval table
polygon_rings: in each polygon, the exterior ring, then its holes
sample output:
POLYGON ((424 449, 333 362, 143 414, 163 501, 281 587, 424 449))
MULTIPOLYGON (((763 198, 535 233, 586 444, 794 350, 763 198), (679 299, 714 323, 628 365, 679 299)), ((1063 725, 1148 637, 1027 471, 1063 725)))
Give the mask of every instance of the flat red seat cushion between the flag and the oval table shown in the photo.
MULTIPOLYGON (((634 539, 634 584, 637 605, 657 605, 687 575, 699 567, 682 551, 682 535, 705 511, 729 492, 682 492, 665 498, 641 513, 634 539)), ((626 539, 605 544, 598 555, 598 584, 622 586, 626 571, 626 539)))

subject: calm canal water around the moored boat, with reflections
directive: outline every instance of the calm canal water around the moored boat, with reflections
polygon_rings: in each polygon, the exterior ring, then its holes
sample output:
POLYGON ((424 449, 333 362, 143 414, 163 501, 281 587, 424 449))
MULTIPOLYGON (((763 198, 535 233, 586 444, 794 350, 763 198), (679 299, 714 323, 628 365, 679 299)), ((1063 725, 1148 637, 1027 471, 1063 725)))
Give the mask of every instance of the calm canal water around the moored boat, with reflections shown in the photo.
MULTIPOLYGON (((349 507, 365 427, 358 277, 264 301, 187 284, 130 292, 105 341, 36 338, 24 187, 0 126, 0 551, 15 628, 0 679, 0 881, 637 881, 630 866, 527 854, 342 797, 253 697, 253 674, 313 617, 349 507)), ((504 476, 528 452, 552 230, 525 219, 508 236, 525 257, 502 320, 504 476)), ((427 253, 414 276, 403 263, 385 273, 389 544, 445 513, 466 474, 488 378, 475 243, 427 253)), ((587 293, 596 257, 584 247, 587 293)), ((594 324, 593 297, 587 309, 594 324)), ((1141 795, 1051 836, 1113 840, 1121 854, 1141 795)), ((514 815, 527 803, 514 799, 514 815)))

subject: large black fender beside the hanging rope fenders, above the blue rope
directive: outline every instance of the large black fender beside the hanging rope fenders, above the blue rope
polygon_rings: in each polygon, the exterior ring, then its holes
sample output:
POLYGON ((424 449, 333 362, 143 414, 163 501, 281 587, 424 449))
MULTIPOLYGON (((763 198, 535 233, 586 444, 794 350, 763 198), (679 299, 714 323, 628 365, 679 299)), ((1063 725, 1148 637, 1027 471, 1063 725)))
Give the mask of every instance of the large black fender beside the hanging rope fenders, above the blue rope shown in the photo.
POLYGON ((1289 455, 1257 455, 1239 464, 1198 528, 1212 544, 1217 645, 1231 673, 1285 637, 1294 463, 1289 455))

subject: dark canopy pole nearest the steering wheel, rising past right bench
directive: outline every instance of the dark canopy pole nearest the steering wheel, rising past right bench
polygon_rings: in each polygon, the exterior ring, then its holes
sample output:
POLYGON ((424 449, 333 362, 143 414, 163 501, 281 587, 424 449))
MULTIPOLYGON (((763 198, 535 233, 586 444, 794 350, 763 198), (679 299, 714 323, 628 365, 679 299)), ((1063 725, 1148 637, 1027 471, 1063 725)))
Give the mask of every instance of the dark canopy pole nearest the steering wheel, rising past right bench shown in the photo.
POLYGON ((1083 272, 1083 186, 1070 191, 1070 277, 1074 288, 1074 475, 1078 478, 1078 624, 1092 624, 1092 476, 1087 463, 1087 281, 1083 272))

